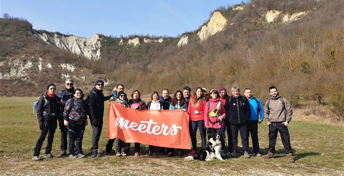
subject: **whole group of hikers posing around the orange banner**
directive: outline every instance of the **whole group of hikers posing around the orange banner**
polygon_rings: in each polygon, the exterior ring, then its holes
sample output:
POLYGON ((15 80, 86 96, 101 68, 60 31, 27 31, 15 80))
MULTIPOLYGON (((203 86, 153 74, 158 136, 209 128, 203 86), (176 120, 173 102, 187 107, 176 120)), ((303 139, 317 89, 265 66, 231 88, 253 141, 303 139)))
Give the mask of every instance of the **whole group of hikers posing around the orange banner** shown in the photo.
MULTIPOLYGON (((61 130, 60 157, 67 156, 67 134, 69 136, 69 157, 85 157, 86 155, 82 151, 82 140, 85 126, 88 124, 87 115, 89 115, 93 129, 91 157, 102 155, 101 152, 98 152, 98 142, 103 128, 104 101, 109 100, 116 101, 127 108, 138 110, 181 109, 186 111, 190 118, 189 129, 192 144, 192 151, 189 156, 194 157, 197 157, 197 129, 201 136, 202 148, 206 146, 207 131, 210 134, 223 134, 224 137, 221 139, 222 157, 226 156, 225 132, 227 132, 228 137, 228 153, 232 157, 238 156, 238 133, 241 136, 244 157, 250 158, 248 153, 250 135, 253 155, 261 156, 259 153, 258 123, 261 123, 265 117, 269 126, 269 149, 268 154, 262 157, 266 159, 275 158, 275 145, 279 132, 287 159, 291 163, 294 162, 287 127, 292 118, 291 104, 279 95, 275 86, 269 87, 270 98, 265 104, 252 95, 250 88, 246 88, 244 96, 241 96, 238 86, 231 88, 232 96, 227 94, 224 87, 220 87, 218 90, 211 89, 209 92, 205 88, 197 87, 191 95, 191 88, 186 86, 183 90, 175 91, 173 97, 170 96, 168 89, 163 89, 161 95, 157 91, 153 91, 147 104, 141 100, 141 94, 138 90, 131 93, 129 100, 122 84, 116 86, 114 94, 104 96, 104 82, 97 80, 86 99, 84 99, 82 90, 74 88, 73 79, 67 79, 65 86, 65 89, 56 95, 56 86, 49 84, 47 92, 39 99, 37 119, 41 134, 34 148, 32 157, 34 161, 40 160, 40 150, 47 134, 44 157, 54 157, 51 154, 51 146, 57 121, 61 130)), ((128 156, 130 143, 125 143, 118 138, 108 140, 104 154, 110 155, 114 142, 116 156, 128 156)), ((134 156, 140 156, 140 149, 140 143, 135 143, 134 156)), ((181 156, 184 154, 184 150, 149 145, 148 155, 154 154, 166 154, 168 157, 181 156)))

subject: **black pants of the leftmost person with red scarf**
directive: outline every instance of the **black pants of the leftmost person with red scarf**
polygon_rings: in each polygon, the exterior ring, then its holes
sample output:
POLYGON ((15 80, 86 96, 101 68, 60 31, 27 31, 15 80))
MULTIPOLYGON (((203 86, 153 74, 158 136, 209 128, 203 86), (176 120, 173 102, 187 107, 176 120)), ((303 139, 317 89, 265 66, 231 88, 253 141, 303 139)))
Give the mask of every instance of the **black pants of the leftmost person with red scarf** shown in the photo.
POLYGON ((44 154, 50 154, 51 153, 51 146, 53 144, 54 139, 54 133, 57 128, 57 121, 45 121, 44 122, 45 128, 41 130, 41 134, 38 137, 38 140, 36 142, 36 146, 34 148, 33 156, 39 156, 41 152, 41 148, 43 145, 43 142, 45 140, 46 135, 48 134, 48 138, 46 141, 46 147, 45 147, 45 153, 44 154))

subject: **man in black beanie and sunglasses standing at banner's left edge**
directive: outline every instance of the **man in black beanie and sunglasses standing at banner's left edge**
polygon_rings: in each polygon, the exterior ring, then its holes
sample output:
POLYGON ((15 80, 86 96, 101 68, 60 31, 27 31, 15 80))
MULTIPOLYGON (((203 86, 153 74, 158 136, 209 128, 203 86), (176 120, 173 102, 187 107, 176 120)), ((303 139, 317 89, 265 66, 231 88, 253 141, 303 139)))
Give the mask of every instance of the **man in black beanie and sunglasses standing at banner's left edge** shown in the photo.
POLYGON ((95 87, 89 93, 89 120, 93 129, 92 136, 92 148, 91 157, 100 156, 101 153, 98 152, 98 142, 103 128, 103 116, 104 116, 104 101, 109 100, 114 95, 104 96, 103 94, 104 81, 97 80, 95 87), (94 92, 96 92, 97 96, 94 92), (97 97, 97 99, 96 99, 97 97))

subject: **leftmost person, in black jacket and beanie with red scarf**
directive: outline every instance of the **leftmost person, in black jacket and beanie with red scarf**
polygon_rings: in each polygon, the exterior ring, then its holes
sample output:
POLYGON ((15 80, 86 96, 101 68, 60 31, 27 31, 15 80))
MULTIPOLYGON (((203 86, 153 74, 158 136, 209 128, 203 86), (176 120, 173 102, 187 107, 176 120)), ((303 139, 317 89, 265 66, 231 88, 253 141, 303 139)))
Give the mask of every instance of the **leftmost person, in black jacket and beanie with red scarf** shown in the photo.
POLYGON ((49 84, 46 89, 47 92, 42 95, 38 101, 37 119, 41 134, 38 137, 34 148, 34 154, 32 157, 33 161, 40 160, 40 151, 47 134, 48 139, 45 147, 44 157, 55 157, 51 154, 51 147, 53 144, 55 130, 57 128, 57 120, 62 121, 62 116, 60 114, 60 98, 55 95, 56 86, 54 84, 49 84))

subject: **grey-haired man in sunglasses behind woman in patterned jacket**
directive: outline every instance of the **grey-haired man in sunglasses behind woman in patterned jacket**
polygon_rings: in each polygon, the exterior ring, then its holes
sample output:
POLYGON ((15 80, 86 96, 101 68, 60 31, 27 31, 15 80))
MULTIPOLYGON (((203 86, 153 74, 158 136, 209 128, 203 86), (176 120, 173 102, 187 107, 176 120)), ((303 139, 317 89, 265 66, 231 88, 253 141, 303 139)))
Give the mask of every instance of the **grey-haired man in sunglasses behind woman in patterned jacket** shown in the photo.
MULTIPOLYGON (((74 91, 74 81, 71 78, 66 79, 65 88, 63 90, 58 91, 57 96, 61 98, 60 105, 61 105, 61 115, 63 114, 64 107, 66 105, 66 101, 73 95, 74 91)), ((63 124, 63 121, 58 122, 58 126, 61 130, 61 154, 60 157, 67 156, 67 134, 68 130, 67 127, 63 124)))

